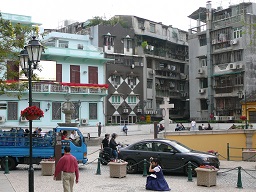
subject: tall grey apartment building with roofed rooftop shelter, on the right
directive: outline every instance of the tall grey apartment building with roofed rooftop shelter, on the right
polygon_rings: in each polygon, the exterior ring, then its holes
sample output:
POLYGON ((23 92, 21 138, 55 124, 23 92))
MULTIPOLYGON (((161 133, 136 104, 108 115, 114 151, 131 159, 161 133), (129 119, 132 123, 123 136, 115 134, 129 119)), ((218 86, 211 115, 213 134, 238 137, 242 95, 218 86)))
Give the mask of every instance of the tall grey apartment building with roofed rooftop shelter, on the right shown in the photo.
POLYGON ((256 110, 241 106, 255 90, 256 4, 213 9, 210 2, 189 18, 190 118, 196 121, 256 121, 256 110))

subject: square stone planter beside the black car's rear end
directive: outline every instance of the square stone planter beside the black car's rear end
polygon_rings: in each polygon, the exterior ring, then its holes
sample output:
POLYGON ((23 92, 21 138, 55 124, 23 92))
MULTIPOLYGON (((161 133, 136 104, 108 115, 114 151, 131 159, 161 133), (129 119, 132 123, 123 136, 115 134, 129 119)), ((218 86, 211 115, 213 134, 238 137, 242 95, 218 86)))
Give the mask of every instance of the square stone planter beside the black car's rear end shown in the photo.
POLYGON ((109 162, 110 177, 122 178, 126 177, 127 162, 109 162))

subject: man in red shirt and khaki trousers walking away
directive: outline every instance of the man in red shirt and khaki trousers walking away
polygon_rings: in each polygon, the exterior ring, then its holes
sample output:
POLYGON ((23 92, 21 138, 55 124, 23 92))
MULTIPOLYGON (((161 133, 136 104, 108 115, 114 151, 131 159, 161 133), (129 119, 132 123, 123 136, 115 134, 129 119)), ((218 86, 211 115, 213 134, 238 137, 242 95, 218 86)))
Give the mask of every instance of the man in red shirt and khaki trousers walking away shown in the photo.
POLYGON ((64 192, 73 192, 74 180, 76 177, 76 183, 79 180, 79 170, 77 159, 71 155, 70 147, 64 147, 64 156, 62 156, 55 168, 53 179, 56 180, 56 177, 63 171, 63 189, 64 192))

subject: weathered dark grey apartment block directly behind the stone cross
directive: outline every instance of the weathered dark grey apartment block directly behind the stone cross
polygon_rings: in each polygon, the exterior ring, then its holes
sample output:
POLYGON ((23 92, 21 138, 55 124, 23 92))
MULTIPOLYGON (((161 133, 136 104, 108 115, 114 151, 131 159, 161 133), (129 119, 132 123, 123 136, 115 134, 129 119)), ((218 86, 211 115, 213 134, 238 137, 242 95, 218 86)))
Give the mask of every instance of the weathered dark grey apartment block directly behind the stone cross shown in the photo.
POLYGON ((143 56, 146 118, 161 120, 164 97, 174 108, 171 119, 189 119, 187 32, 161 22, 117 15, 135 33, 135 54, 143 56))

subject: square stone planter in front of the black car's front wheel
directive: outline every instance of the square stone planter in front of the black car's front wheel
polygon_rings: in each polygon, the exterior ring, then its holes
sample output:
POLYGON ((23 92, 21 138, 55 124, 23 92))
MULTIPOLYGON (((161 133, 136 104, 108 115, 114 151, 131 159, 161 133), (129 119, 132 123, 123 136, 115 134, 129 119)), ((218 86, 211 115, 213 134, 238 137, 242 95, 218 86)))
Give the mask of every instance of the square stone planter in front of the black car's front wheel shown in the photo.
POLYGON ((205 168, 196 168, 197 173, 197 185, 199 186, 216 186, 216 177, 218 169, 205 169, 205 168))

